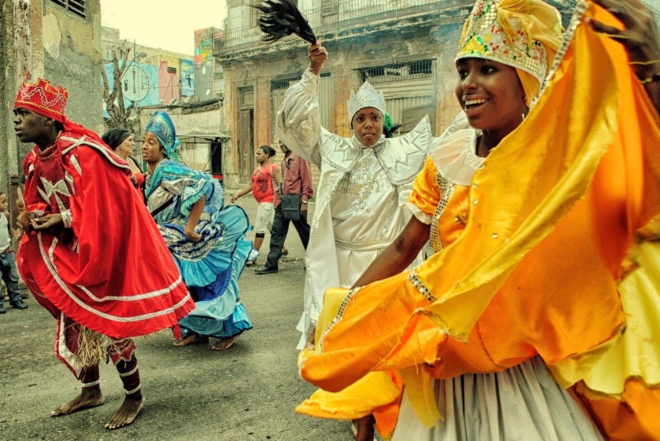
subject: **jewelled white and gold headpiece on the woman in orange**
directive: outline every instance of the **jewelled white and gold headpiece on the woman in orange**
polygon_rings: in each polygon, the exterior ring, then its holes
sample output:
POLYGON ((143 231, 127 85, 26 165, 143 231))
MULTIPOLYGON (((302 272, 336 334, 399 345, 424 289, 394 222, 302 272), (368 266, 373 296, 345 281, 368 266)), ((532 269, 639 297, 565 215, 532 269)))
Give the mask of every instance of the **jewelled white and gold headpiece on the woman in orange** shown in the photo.
POLYGON ((561 33, 559 11, 543 1, 477 0, 465 20, 455 59, 498 61, 533 75, 540 84, 561 33))

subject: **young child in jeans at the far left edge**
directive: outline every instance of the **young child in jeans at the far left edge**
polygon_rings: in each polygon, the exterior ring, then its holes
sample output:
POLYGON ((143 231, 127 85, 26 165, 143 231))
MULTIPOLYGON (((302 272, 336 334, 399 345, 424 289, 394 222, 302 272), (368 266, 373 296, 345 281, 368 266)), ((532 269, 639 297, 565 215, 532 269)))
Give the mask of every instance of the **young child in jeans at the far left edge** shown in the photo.
MULTIPOLYGON (((18 289, 18 270, 16 261, 11 250, 11 238, 15 235, 14 229, 9 222, 9 213, 7 212, 7 194, 0 192, 0 272, 2 279, 7 285, 7 295, 9 296, 9 305, 18 309, 27 309, 28 305, 20 299, 20 289, 18 289)), ((5 314, 5 299, 0 302, 0 314, 5 314)))

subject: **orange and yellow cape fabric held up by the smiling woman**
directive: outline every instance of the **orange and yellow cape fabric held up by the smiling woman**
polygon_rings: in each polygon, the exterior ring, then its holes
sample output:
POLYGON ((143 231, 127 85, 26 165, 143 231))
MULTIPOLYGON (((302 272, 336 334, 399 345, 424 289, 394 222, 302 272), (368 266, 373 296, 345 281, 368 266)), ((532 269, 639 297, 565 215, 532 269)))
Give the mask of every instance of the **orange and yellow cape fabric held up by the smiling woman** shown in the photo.
POLYGON ((417 287, 405 273, 335 290, 345 309, 302 376, 341 390, 371 370, 430 366, 447 378, 613 344, 625 324, 618 268, 660 213, 660 121, 626 61, 578 26, 546 93, 475 175, 459 239, 416 269, 417 287))

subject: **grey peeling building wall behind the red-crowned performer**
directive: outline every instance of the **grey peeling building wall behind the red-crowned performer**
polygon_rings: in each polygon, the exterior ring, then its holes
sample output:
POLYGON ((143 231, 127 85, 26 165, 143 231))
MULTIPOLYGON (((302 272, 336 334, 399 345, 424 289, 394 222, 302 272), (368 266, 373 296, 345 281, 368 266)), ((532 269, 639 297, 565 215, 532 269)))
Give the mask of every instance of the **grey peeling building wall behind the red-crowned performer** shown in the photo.
POLYGON ((48 78, 69 92, 67 116, 92 130, 103 129, 99 83, 101 20, 99 0, 8 0, 0 11, 0 189, 11 191, 22 159, 32 145, 15 136, 13 104, 21 76, 48 78))

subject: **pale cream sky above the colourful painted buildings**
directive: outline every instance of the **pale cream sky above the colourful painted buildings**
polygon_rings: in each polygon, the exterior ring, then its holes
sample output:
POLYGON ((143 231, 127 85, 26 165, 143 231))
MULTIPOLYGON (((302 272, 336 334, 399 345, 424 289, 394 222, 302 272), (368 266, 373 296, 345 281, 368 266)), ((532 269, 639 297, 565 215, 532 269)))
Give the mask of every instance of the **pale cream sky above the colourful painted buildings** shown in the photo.
POLYGON ((224 0, 101 0, 101 24, 129 42, 194 55, 196 29, 222 27, 224 0))

